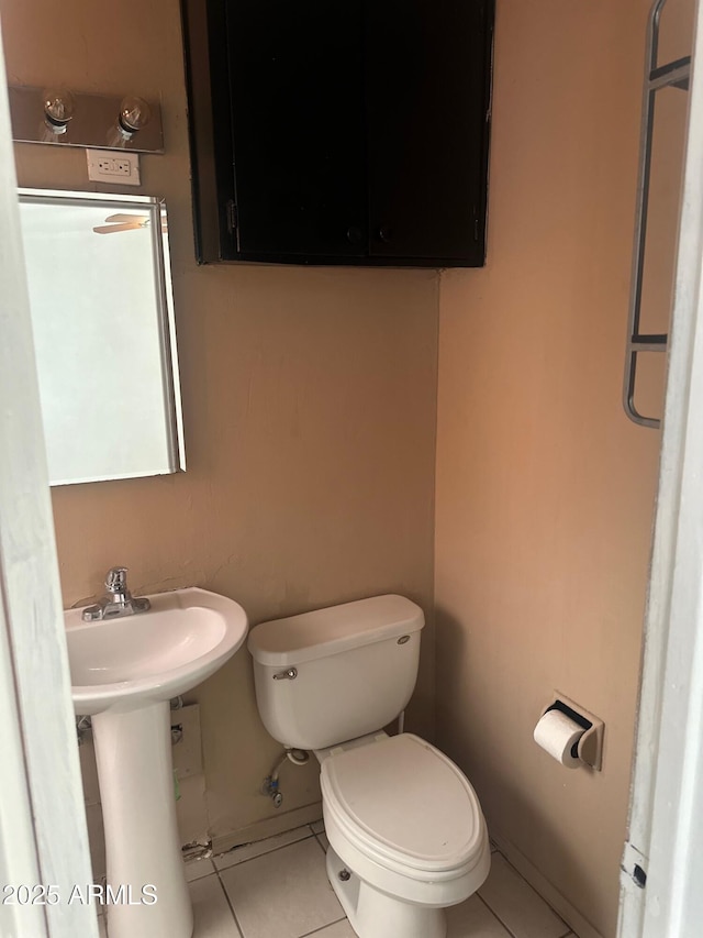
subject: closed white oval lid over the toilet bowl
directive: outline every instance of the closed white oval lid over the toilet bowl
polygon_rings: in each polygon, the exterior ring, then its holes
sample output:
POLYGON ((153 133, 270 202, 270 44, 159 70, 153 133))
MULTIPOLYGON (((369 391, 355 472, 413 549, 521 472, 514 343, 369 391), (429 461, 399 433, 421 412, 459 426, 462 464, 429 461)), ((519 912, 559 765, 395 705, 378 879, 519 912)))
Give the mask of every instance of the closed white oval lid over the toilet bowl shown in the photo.
POLYGON ((464 773, 412 733, 330 755, 327 809, 366 853, 419 870, 466 867, 483 846, 481 808, 464 773))

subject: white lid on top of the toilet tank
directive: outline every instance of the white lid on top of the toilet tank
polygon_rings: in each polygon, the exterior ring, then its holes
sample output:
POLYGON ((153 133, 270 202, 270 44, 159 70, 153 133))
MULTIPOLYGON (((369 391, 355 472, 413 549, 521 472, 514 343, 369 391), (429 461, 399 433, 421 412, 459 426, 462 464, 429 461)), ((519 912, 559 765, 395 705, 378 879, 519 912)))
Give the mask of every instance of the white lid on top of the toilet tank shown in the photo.
POLYGON ((259 664, 287 667, 420 631, 425 617, 404 596, 388 594, 261 622, 247 648, 259 664))

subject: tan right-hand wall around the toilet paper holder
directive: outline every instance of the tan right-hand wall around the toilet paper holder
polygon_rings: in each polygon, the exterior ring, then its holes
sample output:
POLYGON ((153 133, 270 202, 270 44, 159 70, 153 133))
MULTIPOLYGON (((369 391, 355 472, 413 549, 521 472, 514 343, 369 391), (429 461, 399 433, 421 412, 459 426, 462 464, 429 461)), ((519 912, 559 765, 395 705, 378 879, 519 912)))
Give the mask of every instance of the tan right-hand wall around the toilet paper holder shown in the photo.
POLYGON ((489 263, 440 288, 438 742, 609 938, 659 446, 621 406, 648 7, 499 0, 489 263), (602 773, 533 742, 554 688, 602 773))

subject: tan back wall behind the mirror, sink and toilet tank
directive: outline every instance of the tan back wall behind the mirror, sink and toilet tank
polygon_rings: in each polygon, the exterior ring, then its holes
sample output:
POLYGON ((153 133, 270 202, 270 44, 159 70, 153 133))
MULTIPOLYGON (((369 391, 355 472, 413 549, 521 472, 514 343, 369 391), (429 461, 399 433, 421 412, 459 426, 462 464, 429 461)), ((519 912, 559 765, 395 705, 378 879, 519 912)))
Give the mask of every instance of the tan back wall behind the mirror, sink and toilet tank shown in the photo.
MULTIPOLYGON (((169 208, 188 472, 54 490, 66 604, 124 563, 140 591, 197 584, 252 622, 386 591, 431 614, 436 273, 197 267, 178 0, 66 0, 60 15, 0 0, 0 13, 11 82, 164 108, 166 154, 143 157, 141 191, 169 208)), ((20 145, 16 159, 21 185, 94 188, 80 150, 20 145)), ((433 682, 429 626, 409 714, 428 735, 433 682)), ((274 815, 258 790, 280 747, 246 651, 191 696, 211 834, 274 815)), ((315 802, 316 776, 283 769, 284 807, 315 802)))

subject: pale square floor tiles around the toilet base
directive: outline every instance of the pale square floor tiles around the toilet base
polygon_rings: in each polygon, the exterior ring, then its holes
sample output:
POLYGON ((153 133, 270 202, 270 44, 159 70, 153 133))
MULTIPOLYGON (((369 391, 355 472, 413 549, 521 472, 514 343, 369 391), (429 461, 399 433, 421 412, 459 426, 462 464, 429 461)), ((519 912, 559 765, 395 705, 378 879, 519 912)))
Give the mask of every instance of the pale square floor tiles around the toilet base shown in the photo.
MULTIPOLYGON (((355 938, 327 882, 326 846, 317 821, 189 862, 193 938, 355 938)), ((498 851, 483 887, 448 918, 448 938, 577 938, 498 851)))

